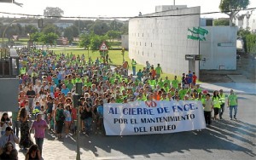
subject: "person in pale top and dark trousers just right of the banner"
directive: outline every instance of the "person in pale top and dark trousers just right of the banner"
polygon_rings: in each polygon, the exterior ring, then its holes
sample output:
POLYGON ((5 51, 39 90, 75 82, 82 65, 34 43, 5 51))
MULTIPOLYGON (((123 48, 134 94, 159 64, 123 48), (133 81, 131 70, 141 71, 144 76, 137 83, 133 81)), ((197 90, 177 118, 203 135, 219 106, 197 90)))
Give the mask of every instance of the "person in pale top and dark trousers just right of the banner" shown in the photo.
POLYGON ((212 123, 212 108, 213 108, 213 101, 211 99, 211 95, 206 95, 205 103, 203 103, 204 106, 204 115, 206 119, 206 124, 211 125, 212 123))

